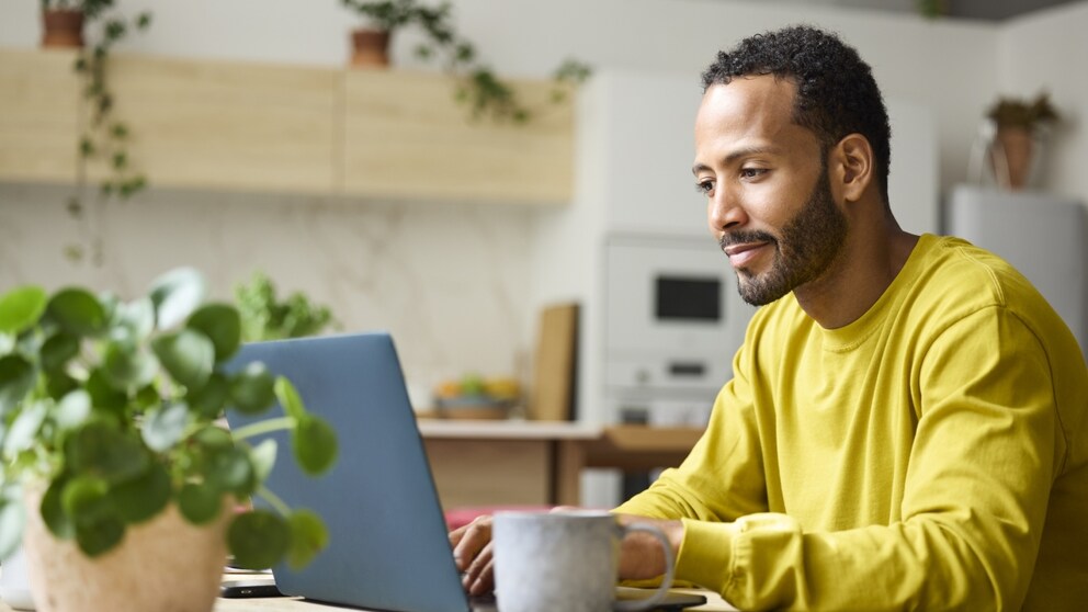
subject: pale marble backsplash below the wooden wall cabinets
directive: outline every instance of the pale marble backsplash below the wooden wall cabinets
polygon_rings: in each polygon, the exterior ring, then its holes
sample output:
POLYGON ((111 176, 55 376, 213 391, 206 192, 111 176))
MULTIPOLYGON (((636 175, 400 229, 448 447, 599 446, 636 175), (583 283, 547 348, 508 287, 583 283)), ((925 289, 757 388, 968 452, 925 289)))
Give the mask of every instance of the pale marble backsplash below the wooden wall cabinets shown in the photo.
POLYGON ((193 265, 214 298, 231 299, 262 270, 280 294, 330 306, 344 332, 390 331, 417 404, 467 372, 525 381, 531 209, 152 190, 86 197, 72 215, 70 195, 0 185, 0 292, 80 284, 132 297, 193 265))

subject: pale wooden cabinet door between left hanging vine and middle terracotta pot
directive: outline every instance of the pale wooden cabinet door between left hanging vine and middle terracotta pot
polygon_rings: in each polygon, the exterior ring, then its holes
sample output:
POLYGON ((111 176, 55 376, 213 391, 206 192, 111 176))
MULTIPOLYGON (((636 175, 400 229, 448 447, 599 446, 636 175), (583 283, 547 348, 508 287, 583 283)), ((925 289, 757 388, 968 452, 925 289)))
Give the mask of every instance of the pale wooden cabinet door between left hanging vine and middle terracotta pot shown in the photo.
MULTIPOLYGON (((327 192, 339 71, 118 55, 115 116, 155 186, 327 192)), ((91 163, 89 178, 106 171, 91 163)))

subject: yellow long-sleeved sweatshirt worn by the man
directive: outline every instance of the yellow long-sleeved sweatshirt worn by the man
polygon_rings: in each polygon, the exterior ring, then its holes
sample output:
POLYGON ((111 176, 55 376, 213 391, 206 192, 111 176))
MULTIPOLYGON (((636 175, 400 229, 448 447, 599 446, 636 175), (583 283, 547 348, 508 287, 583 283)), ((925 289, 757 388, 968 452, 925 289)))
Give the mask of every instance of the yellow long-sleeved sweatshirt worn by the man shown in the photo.
POLYGON ((1008 263, 922 236, 870 310, 761 308, 706 432, 617 512, 741 609, 1088 610, 1088 371, 1008 263))

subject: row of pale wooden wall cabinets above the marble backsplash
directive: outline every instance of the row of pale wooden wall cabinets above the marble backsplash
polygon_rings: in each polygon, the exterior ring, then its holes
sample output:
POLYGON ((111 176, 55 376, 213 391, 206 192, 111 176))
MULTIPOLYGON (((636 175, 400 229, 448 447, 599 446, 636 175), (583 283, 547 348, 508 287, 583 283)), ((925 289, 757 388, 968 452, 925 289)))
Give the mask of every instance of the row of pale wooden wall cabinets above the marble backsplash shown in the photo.
MULTIPOLYGON (((0 49, 0 181, 71 182, 84 102, 71 52, 0 49)), ((115 116, 152 186, 563 204, 570 101, 514 81, 525 125, 472 122, 439 72, 111 58, 115 116)), ((102 162, 86 168, 90 180, 102 162)))

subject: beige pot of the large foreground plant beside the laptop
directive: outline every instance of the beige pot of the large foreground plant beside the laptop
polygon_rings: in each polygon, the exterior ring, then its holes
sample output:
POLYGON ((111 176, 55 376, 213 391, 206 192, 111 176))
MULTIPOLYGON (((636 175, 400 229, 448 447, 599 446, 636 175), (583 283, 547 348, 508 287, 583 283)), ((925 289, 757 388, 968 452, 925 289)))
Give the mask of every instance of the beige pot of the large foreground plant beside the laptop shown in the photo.
POLYGON ((132 525, 115 548, 90 558, 75 541, 57 540, 38 511, 42 490, 27 490, 26 554, 38 612, 209 612, 226 563, 227 508, 207 525, 193 525, 171 503, 132 525))

